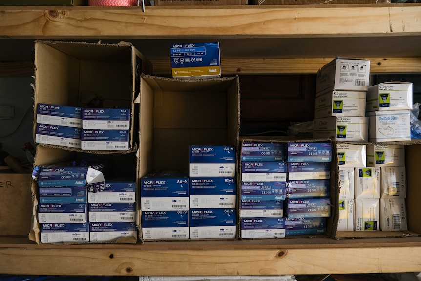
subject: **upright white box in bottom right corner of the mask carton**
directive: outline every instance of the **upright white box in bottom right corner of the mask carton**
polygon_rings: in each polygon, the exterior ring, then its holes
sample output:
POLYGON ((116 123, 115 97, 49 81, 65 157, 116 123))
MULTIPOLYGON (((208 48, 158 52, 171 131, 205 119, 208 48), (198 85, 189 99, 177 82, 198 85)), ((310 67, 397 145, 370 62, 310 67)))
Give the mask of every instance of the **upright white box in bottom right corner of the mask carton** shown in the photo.
POLYGON ((405 199, 380 199, 380 230, 408 230, 405 199))

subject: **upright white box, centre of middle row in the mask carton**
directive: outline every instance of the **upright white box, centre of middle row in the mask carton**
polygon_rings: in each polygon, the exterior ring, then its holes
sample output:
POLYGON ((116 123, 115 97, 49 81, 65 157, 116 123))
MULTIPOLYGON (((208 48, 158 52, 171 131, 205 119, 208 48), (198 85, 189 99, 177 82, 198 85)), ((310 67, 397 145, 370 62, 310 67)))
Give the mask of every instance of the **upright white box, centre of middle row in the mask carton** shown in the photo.
POLYGON ((355 199, 380 198, 380 168, 355 168, 354 178, 355 199))

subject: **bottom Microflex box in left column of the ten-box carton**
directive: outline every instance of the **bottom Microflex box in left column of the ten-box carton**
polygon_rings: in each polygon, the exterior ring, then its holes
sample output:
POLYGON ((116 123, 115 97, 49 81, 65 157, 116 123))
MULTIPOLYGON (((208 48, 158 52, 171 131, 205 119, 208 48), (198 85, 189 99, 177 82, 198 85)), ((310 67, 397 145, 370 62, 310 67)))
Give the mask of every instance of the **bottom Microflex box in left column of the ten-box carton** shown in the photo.
POLYGON ((284 218, 241 218, 241 238, 284 238, 284 218))

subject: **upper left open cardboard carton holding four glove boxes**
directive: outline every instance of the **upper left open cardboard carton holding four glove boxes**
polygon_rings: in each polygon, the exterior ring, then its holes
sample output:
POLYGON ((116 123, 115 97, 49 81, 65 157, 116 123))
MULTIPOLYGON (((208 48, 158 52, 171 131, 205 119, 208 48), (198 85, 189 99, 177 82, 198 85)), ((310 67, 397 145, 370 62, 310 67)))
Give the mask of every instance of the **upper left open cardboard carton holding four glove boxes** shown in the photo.
POLYGON ((136 151, 139 108, 133 101, 141 72, 150 74, 151 68, 131 43, 36 41, 35 105, 130 108, 130 145, 120 152, 136 151))

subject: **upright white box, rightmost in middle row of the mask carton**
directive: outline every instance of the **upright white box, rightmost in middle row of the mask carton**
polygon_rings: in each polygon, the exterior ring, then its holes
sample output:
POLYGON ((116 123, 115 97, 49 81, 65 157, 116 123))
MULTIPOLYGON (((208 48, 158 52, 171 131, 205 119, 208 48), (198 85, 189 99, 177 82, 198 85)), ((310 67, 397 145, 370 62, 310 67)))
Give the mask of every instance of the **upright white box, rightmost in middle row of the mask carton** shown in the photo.
POLYGON ((380 168, 380 198, 406 198, 405 166, 380 168))

